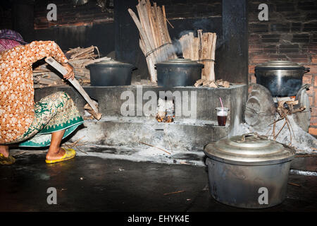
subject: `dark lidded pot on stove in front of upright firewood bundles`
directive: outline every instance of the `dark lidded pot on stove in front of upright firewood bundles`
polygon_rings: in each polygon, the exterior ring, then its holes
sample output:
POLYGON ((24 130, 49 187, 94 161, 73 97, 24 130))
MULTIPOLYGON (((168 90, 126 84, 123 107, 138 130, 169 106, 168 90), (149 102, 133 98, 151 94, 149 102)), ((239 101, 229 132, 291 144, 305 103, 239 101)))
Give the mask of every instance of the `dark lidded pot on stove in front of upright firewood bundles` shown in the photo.
POLYGON ((157 70, 157 83, 163 87, 190 86, 201 78, 199 64, 190 59, 171 59, 155 64, 157 70))

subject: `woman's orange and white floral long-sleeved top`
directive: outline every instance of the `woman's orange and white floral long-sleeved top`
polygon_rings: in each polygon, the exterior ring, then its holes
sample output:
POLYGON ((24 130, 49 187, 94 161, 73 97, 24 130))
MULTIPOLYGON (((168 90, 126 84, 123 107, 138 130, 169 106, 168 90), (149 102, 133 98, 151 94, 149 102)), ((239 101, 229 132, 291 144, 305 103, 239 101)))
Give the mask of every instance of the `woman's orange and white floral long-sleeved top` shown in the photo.
POLYGON ((35 117, 32 64, 44 57, 67 59, 53 41, 35 41, 0 52, 0 144, 27 131, 35 117))

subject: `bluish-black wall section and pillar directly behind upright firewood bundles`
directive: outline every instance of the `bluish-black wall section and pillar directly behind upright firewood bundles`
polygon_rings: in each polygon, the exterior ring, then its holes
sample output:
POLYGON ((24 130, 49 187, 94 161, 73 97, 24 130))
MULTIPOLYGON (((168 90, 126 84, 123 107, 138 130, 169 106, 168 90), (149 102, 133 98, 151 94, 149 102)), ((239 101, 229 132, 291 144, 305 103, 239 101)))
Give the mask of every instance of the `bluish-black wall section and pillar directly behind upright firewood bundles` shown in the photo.
MULTIPOLYGON (((217 33, 216 79, 247 83, 247 4, 244 0, 226 1, 157 1, 166 6, 166 16, 174 28, 172 40, 186 32, 202 29, 217 33), (229 66, 230 65, 230 66, 229 66)), ((128 8, 137 12, 137 0, 115 1, 116 57, 137 66, 141 78, 149 78, 144 55, 139 49, 139 31, 128 8)))

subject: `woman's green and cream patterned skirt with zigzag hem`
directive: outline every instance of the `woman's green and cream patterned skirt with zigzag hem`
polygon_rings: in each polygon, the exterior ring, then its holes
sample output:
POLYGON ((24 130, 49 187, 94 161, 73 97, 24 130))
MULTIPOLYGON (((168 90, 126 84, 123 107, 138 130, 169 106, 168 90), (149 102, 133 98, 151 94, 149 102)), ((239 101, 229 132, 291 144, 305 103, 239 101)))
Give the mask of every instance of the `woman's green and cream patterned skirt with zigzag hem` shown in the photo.
POLYGON ((19 143, 20 147, 46 147, 51 144, 51 133, 65 129, 63 138, 66 138, 83 122, 70 96, 64 92, 54 93, 35 103, 34 121, 12 143, 19 143))

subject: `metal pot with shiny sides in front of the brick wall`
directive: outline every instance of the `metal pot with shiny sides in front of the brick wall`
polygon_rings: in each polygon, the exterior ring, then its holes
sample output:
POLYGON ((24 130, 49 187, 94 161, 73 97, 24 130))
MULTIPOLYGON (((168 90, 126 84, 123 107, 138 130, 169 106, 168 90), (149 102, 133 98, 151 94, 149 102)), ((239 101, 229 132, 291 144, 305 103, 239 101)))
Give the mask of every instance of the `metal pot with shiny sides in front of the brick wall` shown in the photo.
POLYGON ((255 67, 256 83, 271 91, 273 97, 290 97, 302 87, 309 68, 292 61, 267 61, 255 67))

